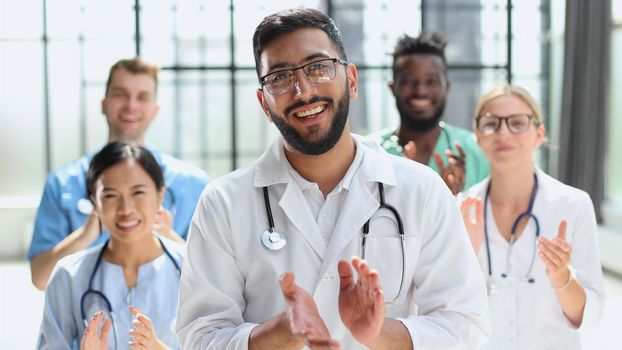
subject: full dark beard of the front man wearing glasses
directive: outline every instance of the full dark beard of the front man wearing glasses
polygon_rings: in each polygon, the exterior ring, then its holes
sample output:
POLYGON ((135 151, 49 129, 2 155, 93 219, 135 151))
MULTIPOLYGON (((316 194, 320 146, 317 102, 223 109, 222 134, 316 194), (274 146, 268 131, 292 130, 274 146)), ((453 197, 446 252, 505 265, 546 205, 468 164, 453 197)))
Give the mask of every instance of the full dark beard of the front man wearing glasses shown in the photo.
MULTIPOLYGON (((285 109, 284 115, 290 114, 291 110, 295 108, 299 108, 311 103, 316 102, 326 102, 329 106, 334 106, 335 103, 330 97, 313 97, 309 101, 299 101, 294 103, 285 109)), ((337 105, 337 109, 335 110, 335 115, 333 116, 333 120, 330 124, 330 129, 326 133, 326 135, 320 136, 319 139, 316 140, 307 140, 305 139, 296 129, 294 129, 291 125, 287 124, 284 117, 277 115, 274 111, 269 109, 270 116, 272 118, 272 122, 279 129, 281 135, 288 144, 294 147, 298 152, 307 155, 320 155, 331 150, 336 144, 337 141, 341 138, 341 134, 343 133, 343 129, 346 125, 346 121, 348 120, 348 111, 350 109, 350 97, 348 96, 347 90, 339 100, 337 105)), ((292 116, 291 118, 296 118, 292 116)), ((315 128, 313 131, 319 131, 318 125, 312 125, 310 128, 315 128)))

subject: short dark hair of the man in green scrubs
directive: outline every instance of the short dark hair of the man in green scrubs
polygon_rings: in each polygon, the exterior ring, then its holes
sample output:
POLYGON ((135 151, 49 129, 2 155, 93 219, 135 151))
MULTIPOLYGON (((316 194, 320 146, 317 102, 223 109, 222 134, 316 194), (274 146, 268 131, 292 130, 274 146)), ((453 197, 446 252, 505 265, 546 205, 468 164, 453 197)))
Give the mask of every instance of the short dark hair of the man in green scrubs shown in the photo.
POLYGON ((395 61, 401 56, 407 55, 436 55, 443 60, 443 64, 447 67, 445 46, 447 46, 445 35, 439 32, 423 32, 417 38, 404 35, 397 41, 393 50, 393 75, 395 76, 395 61))

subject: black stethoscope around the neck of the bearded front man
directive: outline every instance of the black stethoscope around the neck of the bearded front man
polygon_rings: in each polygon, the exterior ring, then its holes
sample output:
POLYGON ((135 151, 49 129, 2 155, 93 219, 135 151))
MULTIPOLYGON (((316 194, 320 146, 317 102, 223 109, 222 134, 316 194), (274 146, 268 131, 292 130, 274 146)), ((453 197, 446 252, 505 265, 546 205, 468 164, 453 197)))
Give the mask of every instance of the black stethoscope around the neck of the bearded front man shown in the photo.
MULTIPOLYGON (((399 237, 401 241, 400 247, 402 250, 402 279, 400 280, 400 288, 395 298, 390 299, 390 300, 385 300, 385 303, 392 304, 400 298, 400 296, 402 295, 402 289, 404 287, 404 275, 406 271, 406 248, 405 248, 405 241, 404 241, 405 240, 404 224, 402 223, 402 218, 400 216, 400 213, 397 211, 397 209, 395 209, 395 207, 385 202, 384 186, 380 182, 378 182, 378 192, 380 194, 380 206, 378 207, 376 211, 380 209, 387 209, 393 214, 393 216, 395 217, 395 222, 397 223, 397 229, 398 229, 398 233, 399 233, 399 237)), ((266 206, 266 214, 268 216, 268 224, 270 225, 270 228, 268 228, 261 234, 261 243, 264 245, 264 247, 270 250, 275 250, 275 251, 281 250, 287 244, 287 239, 285 238, 284 234, 279 233, 274 228, 274 219, 272 217, 272 209, 270 208, 270 197, 268 196, 268 187, 263 188, 263 198, 264 198, 264 204, 266 206)), ((366 243, 367 243, 367 236, 369 235, 370 222, 371 222, 371 218, 368 219, 363 225, 363 233, 362 233, 363 237, 361 240, 361 258, 362 259, 365 259, 365 251, 367 248, 366 243)))

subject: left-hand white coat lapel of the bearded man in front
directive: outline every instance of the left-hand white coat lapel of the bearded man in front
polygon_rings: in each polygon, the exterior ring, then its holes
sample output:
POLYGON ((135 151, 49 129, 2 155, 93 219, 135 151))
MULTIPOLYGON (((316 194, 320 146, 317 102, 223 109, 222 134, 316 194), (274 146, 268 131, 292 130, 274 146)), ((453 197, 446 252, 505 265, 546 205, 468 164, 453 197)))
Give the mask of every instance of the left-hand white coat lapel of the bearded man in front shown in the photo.
MULTIPOLYGON (((298 232, 309 242, 313 250, 322 257, 326 251, 326 243, 322 238, 322 233, 313 219, 311 212, 306 208, 304 208, 304 210, 300 208, 300 206, 306 205, 307 201, 300 191, 300 188, 298 188, 294 181, 289 182, 279 201, 279 206, 283 212, 285 212, 285 217, 296 226, 298 232)), ((290 233, 286 232, 285 234, 290 233)))

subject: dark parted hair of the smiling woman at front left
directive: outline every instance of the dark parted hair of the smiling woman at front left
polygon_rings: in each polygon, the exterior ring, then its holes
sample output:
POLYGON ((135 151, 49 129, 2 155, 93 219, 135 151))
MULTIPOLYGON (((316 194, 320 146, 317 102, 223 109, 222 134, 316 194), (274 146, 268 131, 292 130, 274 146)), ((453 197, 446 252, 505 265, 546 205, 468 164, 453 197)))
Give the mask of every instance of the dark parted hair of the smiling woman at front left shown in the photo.
POLYGON ((89 198, 95 194, 95 182, 101 174, 111 166, 133 159, 143 170, 151 177, 159 191, 164 187, 164 175, 162 168, 149 152, 143 146, 139 146, 133 142, 115 141, 102 148, 89 165, 89 171, 86 173, 86 193, 89 198))

